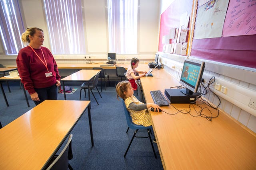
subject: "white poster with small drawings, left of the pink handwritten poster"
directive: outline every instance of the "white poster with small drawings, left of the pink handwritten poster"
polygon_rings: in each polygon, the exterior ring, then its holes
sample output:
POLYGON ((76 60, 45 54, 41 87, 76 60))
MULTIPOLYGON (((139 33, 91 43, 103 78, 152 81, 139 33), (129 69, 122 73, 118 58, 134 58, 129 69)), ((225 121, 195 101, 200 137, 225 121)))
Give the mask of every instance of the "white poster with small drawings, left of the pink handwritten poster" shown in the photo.
POLYGON ((216 38, 222 36, 222 30, 228 0, 211 0, 198 8, 194 39, 216 38))

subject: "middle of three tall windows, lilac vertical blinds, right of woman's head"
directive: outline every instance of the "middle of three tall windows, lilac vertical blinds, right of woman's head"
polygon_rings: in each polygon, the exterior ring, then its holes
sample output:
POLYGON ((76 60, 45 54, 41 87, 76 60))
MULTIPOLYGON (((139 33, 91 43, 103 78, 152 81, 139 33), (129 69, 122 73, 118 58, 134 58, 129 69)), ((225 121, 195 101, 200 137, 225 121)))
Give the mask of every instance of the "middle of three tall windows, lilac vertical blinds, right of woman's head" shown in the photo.
POLYGON ((85 54, 81 0, 44 0, 53 54, 85 54))

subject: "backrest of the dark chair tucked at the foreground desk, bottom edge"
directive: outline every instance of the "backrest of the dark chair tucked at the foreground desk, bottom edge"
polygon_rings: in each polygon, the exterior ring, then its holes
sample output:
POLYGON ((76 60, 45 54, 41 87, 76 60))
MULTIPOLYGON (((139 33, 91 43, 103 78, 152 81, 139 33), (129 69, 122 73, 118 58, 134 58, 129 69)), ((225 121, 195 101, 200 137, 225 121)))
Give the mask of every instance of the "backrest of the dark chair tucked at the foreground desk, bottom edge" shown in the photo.
POLYGON ((63 150, 57 156, 57 158, 48 166, 46 170, 64 170, 68 169, 68 146, 72 140, 73 135, 71 134, 68 138, 63 150))

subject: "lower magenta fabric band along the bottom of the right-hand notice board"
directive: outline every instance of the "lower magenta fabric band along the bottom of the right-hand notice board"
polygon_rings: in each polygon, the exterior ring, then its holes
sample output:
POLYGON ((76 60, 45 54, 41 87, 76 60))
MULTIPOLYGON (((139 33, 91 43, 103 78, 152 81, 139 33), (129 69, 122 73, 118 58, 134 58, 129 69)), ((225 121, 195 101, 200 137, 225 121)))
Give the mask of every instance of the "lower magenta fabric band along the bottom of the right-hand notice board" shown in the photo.
POLYGON ((192 49, 191 57, 256 68, 256 51, 192 49))

